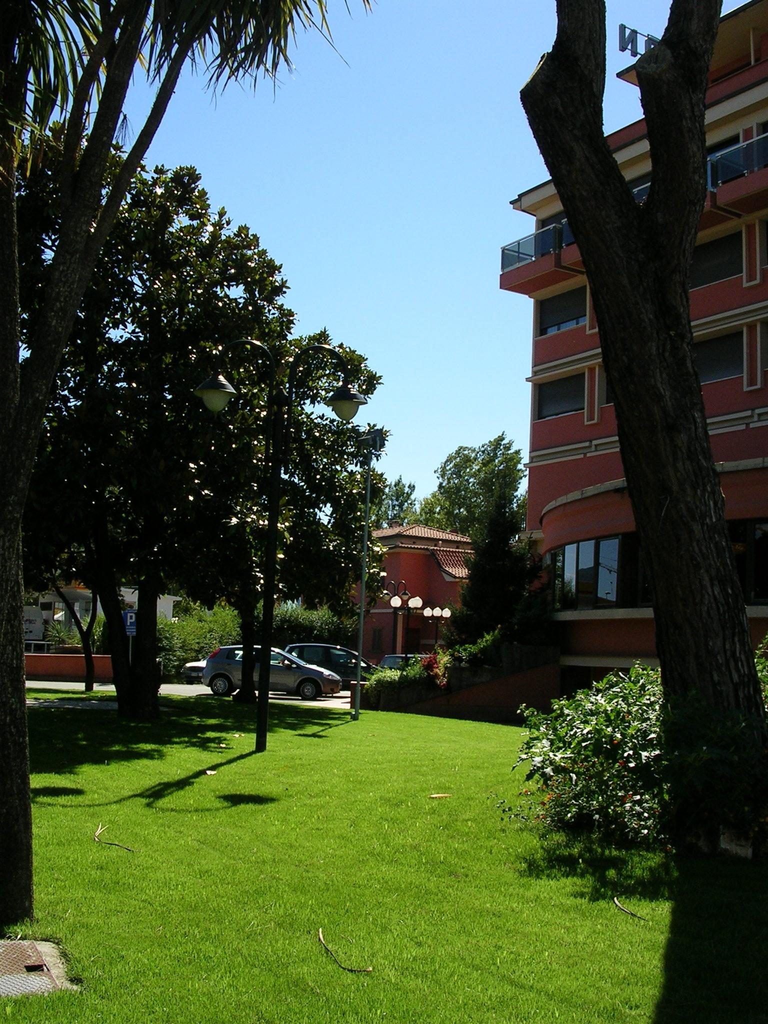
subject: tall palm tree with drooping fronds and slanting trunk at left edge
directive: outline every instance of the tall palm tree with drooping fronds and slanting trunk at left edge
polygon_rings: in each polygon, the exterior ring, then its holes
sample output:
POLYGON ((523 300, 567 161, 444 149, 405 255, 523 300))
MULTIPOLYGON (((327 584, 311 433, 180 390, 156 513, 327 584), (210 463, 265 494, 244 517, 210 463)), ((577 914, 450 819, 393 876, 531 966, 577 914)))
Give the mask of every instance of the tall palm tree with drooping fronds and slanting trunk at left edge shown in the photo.
MULTIPOLYGON (((371 0, 362 0, 370 7, 371 0)), ((32 914, 20 523, 46 401, 78 303, 187 61, 209 84, 273 77, 300 29, 330 39, 326 0, 6 0, 0 22, 0 927, 32 914), (106 179, 134 73, 155 99, 106 179), (15 177, 50 131, 60 229, 34 316, 18 315, 15 177)), ((45 242, 41 240, 41 245, 45 242)))

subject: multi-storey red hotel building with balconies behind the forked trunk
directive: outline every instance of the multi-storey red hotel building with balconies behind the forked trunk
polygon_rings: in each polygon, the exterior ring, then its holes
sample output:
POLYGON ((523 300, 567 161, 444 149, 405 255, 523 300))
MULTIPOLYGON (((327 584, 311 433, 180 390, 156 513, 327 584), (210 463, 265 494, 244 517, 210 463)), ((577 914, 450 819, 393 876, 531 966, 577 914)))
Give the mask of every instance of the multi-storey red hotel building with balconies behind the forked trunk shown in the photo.
MULTIPOLYGON (((632 68, 618 77, 636 84, 632 68)), ((690 312, 757 643, 768 632, 768 0, 723 15, 710 82, 709 193, 690 312)), ((644 121, 608 142, 642 202, 650 181, 644 121)), ((636 658, 657 664, 653 613, 579 247, 551 181, 512 205, 536 217, 532 234, 502 250, 501 287, 534 299, 527 527, 550 566, 568 692, 636 658)))

